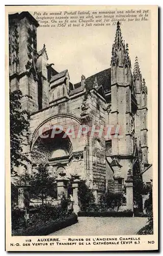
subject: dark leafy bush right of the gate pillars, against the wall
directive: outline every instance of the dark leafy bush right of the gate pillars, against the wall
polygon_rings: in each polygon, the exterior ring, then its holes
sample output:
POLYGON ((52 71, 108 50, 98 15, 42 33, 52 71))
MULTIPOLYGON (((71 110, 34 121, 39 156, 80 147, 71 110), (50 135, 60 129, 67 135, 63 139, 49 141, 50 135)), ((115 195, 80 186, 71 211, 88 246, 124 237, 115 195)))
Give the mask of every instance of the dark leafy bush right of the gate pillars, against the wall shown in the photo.
POLYGON ((81 210, 86 211, 86 209, 89 206, 91 206, 92 203, 95 202, 95 197, 93 195, 93 192, 86 185, 86 181, 81 181, 79 183, 77 195, 78 195, 81 210))

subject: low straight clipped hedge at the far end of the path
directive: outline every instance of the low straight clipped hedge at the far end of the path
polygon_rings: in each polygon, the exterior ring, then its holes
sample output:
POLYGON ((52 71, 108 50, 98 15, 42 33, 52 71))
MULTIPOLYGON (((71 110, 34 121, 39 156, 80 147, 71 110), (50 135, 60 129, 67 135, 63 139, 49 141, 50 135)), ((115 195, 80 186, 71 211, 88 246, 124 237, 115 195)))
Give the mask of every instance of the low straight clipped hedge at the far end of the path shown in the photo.
POLYGON ((79 211, 78 217, 132 217, 132 211, 79 211))

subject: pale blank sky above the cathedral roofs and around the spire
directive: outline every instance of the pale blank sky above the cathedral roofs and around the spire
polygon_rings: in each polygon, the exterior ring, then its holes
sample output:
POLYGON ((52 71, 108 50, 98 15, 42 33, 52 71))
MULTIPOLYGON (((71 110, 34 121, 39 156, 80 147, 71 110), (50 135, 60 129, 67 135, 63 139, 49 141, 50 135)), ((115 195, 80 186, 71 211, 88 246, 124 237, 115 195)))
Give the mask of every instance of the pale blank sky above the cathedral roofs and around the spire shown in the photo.
MULTIPOLYGON (((33 15, 33 13, 31 12, 33 15)), ((36 18, 36 16, 35 16, 36 18)), ((150 19, 142 22, 124 22, 122 39, 128 43, 131 69, 138 56, 140 70, 148 87, 148 144, 151 141, 151 30, 150 19)), ((46 46, 48 63, 54 63, 58 72, 68 69, 72 83, 110 68, 112 45, 116 26, 37 28, 38 51, 46 46)), ((149 152, 150 153, 150 152, 149 152)), ((149 160, 151 156, 149 154, 149 160)))

